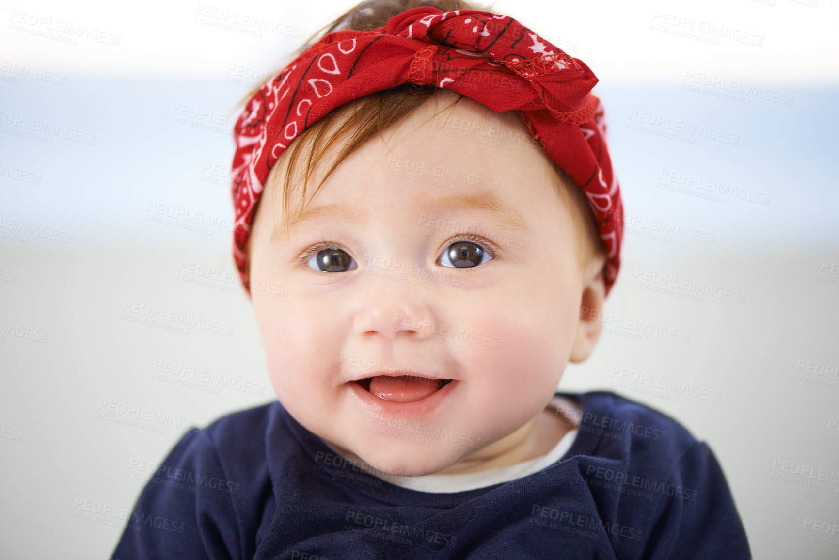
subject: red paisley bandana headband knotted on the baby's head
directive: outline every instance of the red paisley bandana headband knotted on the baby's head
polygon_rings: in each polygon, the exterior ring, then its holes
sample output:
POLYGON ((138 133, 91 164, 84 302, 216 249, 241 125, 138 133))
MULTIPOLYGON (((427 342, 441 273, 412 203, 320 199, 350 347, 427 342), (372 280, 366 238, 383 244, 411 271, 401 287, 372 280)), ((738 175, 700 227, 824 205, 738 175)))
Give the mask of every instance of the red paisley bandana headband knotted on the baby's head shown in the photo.
POLYGON ((333 108, 405 82, 446 87, 496 112, 515 110, 586 195, 607 250, 606 292, 620 266, 623 203, 612 174, 597 77, 508 16, 413 8, 372 31, 326 34, 248 102, 234 128, 233 257, 250 294, 245 248, 268 172, 292 140, 333 108), (493 75, 501 76, 493 76, 493 75), (512 86, 498 88, 498 78, 512 86))

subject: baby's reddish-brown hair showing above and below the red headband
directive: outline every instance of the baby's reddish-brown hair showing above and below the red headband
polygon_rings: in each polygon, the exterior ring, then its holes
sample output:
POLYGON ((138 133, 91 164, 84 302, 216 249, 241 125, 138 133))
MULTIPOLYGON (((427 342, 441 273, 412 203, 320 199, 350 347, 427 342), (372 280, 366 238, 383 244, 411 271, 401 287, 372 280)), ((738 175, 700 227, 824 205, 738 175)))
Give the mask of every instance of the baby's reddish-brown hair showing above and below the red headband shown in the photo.
MULTIPOLYGON (((420 6, 430 6, 443 11, 490 11, 488 9, 489 6, 477 6, 472 3, 467 3, 464 0, 427 0, 425 2, 420 0, 369 0, 358 4, 355 8, 336 18, 331 24, 327 24, 316 31, 305 44, 289 55, 289 58, 290 60, 294 60, 300 53, 308 49, 311 44, 319 40, 322 34, 329 34, 340 29, 367 31, 384 25, 389 18, 392 18, 398 13, 420 6), (323 33, 325 29, 327 29, 326 33, 323 33)), ((272 76, 276 74, 279 74, 279 71, 274 72, 272 76)), ((259 87, 257 86, 252 92, 249 92, 244 100, 250 98, 259 87)), ((297 168, 301 152, 306 153, 305 172, 302 181, 300 181, 300 200, 305 201, 306 187, 310 182, 312 173, 319 168, 318 162, 320 162, 321 158, 325 157, 333 147, 339 145, 341 149, 332 159, 331 165, 320 179, 319 184, 315 187, 315 191, 311 193, 311 196, 315 196, 338 165, 341 165, 341 162, 346 160, 350 154, 359 149, 367 140, 372 139, 374 135, 378 134, 381 137, 386 128, 399 123, 411 113, 414 113, 416 109, 429 101, 430 97, 434 96, 438 89, 432 85, 419 86, 413 83, 404 83, 390 89, 373 92, 344 103, 341 107, 332 109, 315 123, 312 123, 303 133, 300 133, 300 136, 289 144, 289 147, 283 151, 283 154, 280 154, 280 158, 275 162, 274 168, 268 175, 268 181, 266 181, 265 185, 265 189, 272 191, 272 196, 276 196, 277 192, 280 191, 280 174, 278 170, 282 167, 283 160, 285 160, 288 169, 281 187, 283 192, 283 220, 281 231, 288 232, 288 229, 294 224, 296 217, 305 209, 304 207, 300 207, 294 215, 289 216, 289 197, 292 192, 291 182, 293 177, 295 177, 294 171, 297 168), (347 139, 347 137, 349 138, 347 139), (347 140, 341 145, 341 141, 344 139, 347 140)), ((463 97, 466 96, 461 93, 456 93, 456 99, 446 106, 446 108, 454 106, 463 97)), ((487 108, 487 111, 492 110, 487 108)), ((520 124, 524 128, 524 123, 520 124)), ((555 181, 555 187, 560 198, 565 202, 566 207, 568 207, 571 213, 577 233, 577 254, 580 257, 581 268, 585 268, 591 258, 602 250, 602 243, 597 233, 597 224, 591 215, 591 209, 588 207, 588 203, 581 189, 576 186, 574 181, 571 180, 571 177, 559 165, 554 163, 554 169, 556 170, 558 179, 558 181, 555 181)), ((274 201, 272 201, 271 206, 274 207, 274 201)), ((250 243, 248 243, 249 253, 250 243)), ((248 259, 248 267, 249 263, 250 259, 248 259)))

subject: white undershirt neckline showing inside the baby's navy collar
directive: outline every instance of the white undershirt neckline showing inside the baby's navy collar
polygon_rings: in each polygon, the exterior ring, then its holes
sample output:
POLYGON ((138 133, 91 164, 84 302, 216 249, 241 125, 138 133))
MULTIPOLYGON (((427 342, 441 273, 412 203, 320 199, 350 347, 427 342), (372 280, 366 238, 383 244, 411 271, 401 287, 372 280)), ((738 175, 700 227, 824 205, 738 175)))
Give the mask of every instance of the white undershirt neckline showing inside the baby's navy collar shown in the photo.
POLYGON ((580 409, 572 400, 555 395, 548 403, 548 406, 545 406, 545 409, 554 412, 560 417, 565 416, 565 421, 573 426, 573 429, 566 433, 550 452, 541 457, 524 461, 524 463, 509 465, 508 467, 488 468, 477 473, 425 474, 424 476, 393 476, 382 472, 373 474, 380 479, 387 480, 390 484, 395 484, 403 488, 420 490, 420 492, 443 494, 483 488, 485 486, 492 486, 492 484, 509 482, 510 480, 520 479, 529 474, 538 473, 543 468, 556 463, 565 453, 568 453, 568 450, 574 443, 577 428, 580 427, 580 422, 576 420, 580 417, 580 409))

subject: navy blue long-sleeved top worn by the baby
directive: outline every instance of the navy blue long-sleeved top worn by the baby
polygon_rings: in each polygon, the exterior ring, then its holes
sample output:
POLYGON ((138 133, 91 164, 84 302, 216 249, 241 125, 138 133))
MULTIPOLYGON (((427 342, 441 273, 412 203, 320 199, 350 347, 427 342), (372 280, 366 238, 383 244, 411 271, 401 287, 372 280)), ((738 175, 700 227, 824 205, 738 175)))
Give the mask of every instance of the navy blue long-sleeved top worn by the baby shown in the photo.
POLYGON ((750 558, 711 449, 610 392, 579 403, 563 458, 510 482, 435 494, 337 456, 279 401, 178 442, 112 557, 750 558))

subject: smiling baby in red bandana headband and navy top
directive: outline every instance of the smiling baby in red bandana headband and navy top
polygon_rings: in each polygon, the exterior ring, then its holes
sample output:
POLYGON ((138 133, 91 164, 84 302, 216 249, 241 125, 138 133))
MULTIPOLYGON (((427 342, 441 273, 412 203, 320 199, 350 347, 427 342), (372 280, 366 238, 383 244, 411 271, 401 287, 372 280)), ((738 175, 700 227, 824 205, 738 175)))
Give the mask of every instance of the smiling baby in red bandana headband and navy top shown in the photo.
POLYGON ((557 392, 620 265, 597 78, 418 6, 362 3, 249 100, 234 257, 278 400, 187 433, 113 558, 748 558, 704 443, 557 392))

